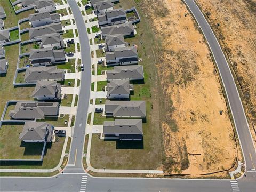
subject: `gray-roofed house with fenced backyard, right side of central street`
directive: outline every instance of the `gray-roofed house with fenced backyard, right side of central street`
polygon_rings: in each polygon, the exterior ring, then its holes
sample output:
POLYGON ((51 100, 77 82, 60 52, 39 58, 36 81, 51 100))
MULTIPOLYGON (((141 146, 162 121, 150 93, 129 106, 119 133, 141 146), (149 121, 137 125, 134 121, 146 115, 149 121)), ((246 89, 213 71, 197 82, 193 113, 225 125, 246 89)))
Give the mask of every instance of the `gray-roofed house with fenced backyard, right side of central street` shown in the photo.
POLYGON ((126 22, 126 13, 123 8, 108 10, 98 15, 99 25, 117 25, 126 22))

